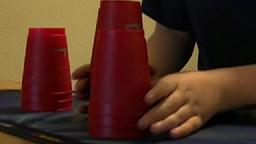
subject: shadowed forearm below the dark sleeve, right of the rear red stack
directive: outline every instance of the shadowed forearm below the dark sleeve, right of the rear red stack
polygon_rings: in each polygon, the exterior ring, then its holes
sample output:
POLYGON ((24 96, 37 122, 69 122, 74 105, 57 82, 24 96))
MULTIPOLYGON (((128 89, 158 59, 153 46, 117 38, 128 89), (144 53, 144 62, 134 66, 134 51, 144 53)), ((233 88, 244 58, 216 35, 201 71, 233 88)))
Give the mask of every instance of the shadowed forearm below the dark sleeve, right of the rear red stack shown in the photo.
POLYGON ((194 44, 188 32, 157 24, 147 42, 149 62, 157 70, 156 77, 180 71, 190 59, 194 44))

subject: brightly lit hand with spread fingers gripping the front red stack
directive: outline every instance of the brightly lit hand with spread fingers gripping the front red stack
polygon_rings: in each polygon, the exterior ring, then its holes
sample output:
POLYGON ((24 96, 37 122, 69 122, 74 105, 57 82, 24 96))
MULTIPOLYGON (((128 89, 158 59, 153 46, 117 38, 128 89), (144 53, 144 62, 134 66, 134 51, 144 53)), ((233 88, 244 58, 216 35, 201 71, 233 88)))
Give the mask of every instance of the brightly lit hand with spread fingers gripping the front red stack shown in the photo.
POLYGON ((147 104, 160 101, 138 122, 138 128, 181 138, 198 130, 220 108, 220 80, 207 72, 181 72, 162 78, 146 94, 147 104))

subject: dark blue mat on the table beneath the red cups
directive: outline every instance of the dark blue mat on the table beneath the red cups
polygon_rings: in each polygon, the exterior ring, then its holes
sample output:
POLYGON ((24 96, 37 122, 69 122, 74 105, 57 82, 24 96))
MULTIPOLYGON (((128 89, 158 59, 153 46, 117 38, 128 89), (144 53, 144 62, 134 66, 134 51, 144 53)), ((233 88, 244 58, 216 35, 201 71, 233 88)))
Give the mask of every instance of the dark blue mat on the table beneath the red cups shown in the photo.
POLYGON ((66 112, 28 113, 20 110, 20 91, 0 91, 0 130, 42 144, 256 144, 256 112, 245 111, 215 116, 194 134, 172 140, 167 134, 140 139, 106 140, 87 134, 86 114, 76 108, 84 102, 74 101, 66 112))

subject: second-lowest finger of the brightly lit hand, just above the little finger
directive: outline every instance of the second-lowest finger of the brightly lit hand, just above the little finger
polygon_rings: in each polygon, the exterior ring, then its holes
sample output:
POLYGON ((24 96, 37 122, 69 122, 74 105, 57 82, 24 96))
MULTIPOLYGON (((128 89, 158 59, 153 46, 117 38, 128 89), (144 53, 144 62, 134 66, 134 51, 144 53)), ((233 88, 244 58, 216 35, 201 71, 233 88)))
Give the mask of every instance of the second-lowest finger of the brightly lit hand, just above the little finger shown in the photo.
POLYGON ((160 134, 162 132, 175 128, 193 115, 194 114, 190 106, 182 106, 174 114, 171 114, 164 120, 152 124, 150 127, 150 132, 152 132, 153 134, 160 134))

